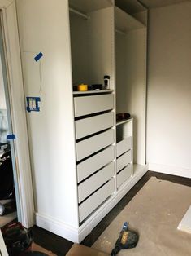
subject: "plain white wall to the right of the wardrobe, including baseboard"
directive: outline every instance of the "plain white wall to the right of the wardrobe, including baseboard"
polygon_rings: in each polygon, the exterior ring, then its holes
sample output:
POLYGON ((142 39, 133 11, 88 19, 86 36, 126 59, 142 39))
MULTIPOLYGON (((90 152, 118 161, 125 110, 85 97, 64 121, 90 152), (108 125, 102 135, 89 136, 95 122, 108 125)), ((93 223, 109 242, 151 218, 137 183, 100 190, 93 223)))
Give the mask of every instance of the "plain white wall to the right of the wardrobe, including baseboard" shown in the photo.
POLYGON ((147 161, 191 178, 191 2, 150 11, 147 161))

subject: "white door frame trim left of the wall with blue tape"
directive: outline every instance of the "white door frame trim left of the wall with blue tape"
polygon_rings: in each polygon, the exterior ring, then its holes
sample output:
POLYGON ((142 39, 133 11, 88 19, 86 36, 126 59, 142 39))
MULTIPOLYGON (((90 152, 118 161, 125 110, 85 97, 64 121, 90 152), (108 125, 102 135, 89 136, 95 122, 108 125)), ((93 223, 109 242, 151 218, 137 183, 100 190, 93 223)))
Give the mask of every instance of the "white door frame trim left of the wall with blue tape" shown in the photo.
POLYGON ((7 61, 7 86, 11 108, 11 124, 15 135, 13 140, 16 166, 14 177, 19 194, 20 222, 24 227, 32 227, 35 223, 33 184, 15 0, 0 0, 0 10, 2 11, 2 29, 7 61))

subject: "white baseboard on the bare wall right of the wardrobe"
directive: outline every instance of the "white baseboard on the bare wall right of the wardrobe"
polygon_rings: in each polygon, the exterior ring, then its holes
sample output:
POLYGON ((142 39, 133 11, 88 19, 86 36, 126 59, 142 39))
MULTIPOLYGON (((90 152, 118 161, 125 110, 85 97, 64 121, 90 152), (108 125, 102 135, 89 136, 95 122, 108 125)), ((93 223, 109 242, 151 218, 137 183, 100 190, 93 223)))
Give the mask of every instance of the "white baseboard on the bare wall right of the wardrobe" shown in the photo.
POLYGON ((176 166, 163 166, 158 164, 149 163, 149 170, 156 171, 163 174, 171 174, 191 179, 191 170, 176 167, 176 166))

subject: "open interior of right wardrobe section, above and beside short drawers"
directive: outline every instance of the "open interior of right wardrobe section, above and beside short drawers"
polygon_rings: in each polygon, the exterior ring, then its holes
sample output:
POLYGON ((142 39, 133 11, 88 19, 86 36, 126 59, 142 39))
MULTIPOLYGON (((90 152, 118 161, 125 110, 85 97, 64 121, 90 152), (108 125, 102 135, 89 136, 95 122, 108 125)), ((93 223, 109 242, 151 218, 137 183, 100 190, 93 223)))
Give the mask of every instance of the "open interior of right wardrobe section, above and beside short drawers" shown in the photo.
MULTIPOLYGON (((145 16, 145 11, 141 15, 145 16)), ((115 7, 116 112, 133 117, 134 172, 145 166, 146 26, 115 7)), ((145 20, 146 23, 146 20, 145 20)))

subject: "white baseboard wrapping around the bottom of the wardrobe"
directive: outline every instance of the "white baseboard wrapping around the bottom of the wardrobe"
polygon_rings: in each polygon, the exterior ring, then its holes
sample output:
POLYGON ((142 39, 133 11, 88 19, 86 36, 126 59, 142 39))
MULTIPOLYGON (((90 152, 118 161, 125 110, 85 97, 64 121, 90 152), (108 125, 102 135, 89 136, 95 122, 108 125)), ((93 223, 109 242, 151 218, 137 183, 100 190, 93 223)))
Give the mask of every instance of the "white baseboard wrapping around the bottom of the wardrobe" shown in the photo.
POLYGON ((148 166, 139 166, 135 174, 125 182, 111 198, 109 198, 98 210, 95 211, 85 223, 79 228, 72 227, 66 223, 60 222, 57 219, 42 214, 36 213, 36 224, 38 227, 45 228, 46 230, 62 236, 63 238, 80 243, 88 236, 94 227, 108 214, 111 209, 124 197, 124 195, 141 179, 147 172, 148 166))

